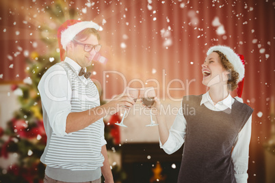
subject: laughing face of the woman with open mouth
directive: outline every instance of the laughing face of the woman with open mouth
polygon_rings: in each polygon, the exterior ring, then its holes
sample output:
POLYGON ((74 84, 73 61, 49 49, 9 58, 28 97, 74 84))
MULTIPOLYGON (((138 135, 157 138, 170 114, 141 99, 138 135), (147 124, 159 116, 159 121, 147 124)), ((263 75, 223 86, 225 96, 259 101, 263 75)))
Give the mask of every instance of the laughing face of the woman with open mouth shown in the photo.
POLYGON ((218 53, 212 52, 207 55, 202 64, 202 84, 207 87, 213 85, 226 85, 229 72, 222 66, 218 53))

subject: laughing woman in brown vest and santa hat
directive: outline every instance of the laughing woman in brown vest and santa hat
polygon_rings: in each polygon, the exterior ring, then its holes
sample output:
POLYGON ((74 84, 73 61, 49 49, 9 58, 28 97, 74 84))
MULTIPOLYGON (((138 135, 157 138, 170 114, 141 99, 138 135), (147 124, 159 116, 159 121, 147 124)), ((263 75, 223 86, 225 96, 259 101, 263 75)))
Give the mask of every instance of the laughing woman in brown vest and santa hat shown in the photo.
POLYGON ((170 130, 156 98, 160 147, 172 154, 184 143, 178 182, 247 182, 253 110, 230 94, 244 79, 244 65, 231 48, 213 46, 202 74, 208 92, 183 97, 170 130))

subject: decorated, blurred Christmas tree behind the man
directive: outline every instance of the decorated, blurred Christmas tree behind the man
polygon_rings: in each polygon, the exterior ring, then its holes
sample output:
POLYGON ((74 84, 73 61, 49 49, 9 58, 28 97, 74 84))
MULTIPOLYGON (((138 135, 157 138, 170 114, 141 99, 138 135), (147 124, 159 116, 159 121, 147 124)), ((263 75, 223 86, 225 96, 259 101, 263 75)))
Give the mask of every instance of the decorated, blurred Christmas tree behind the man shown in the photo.
MULTIPOLYGON (((45 8, 57 27, 66 18, 77 19, 76 11, 70 9, 65 13, 64 6, 64 2, 55 1, 45 8)), ((40 162, 40 156, 46 146, 47 136, 37 87, 44 72, 60 61, 60 54, 57 50, 57 29, 52 29, 47 24, 40 25, 38 29, 40 39, 47 45, 48 51, 45 55, 32 52, 26 58, 27 78, 21 85, 12 85, 12 91, 18 96, 21 107, 7 122, 7 127, 0 128, 0 151, 2 158, 9 158, 11 155, 16 157, 16 163, 10 165, 8 169, 0 169, 0 182, 43 182, 44 178, 45 165, 40 162)), ((111 122, 105 125, 105 139, 108 142, 107 150, 117 153, 120 147, 119 131, 112 121, 119 120, 119 117, 116 118, 116 115, 114 117, 111 117, 111 122)), ((112 172, 115 182, 125 178, 118 165, 112 166, 112 172)))

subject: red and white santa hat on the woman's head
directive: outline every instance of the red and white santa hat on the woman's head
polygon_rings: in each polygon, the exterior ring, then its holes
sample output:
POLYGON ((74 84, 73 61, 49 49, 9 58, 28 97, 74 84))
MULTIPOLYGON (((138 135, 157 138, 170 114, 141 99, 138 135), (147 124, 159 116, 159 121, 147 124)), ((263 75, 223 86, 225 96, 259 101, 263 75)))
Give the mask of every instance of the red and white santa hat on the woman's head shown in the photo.
POLYGON ((221 53, 223 53, 228 61, 230 61, 230 63, 233 65, 234 70, 239 73, 239 79, 237 81, 237 94, 239 97, 241 97, 244 87, 244 56, 235 53, 233 49, 229 48, 228 46, 212 46, 207 51, 207 55, 209 55, 213 51, 220 51, 221 53))

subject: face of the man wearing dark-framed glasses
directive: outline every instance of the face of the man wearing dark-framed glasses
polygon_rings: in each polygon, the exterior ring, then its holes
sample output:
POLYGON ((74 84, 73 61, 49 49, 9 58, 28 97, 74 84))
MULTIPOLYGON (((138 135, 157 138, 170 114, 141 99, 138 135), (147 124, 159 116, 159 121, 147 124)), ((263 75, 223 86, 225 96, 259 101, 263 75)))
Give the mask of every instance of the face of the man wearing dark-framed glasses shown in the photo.
MULTIPOLYGON (((99 40, 94 34, 90 34, 88 38, 77 40, 77 42, 80 42, 81 44, 99 44, 99 40)), ((93 48, 92 51, 86 52, 84 51, 84 45, 81 44, 70 42, 67 48, 68 57, 77 62, 81 68, 86 68, 92 64, 92 59, 94 58, 94 55, 96 55, 96 51, 94 51, 93 48)))

